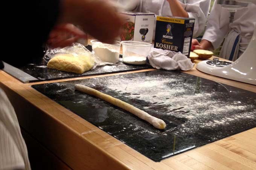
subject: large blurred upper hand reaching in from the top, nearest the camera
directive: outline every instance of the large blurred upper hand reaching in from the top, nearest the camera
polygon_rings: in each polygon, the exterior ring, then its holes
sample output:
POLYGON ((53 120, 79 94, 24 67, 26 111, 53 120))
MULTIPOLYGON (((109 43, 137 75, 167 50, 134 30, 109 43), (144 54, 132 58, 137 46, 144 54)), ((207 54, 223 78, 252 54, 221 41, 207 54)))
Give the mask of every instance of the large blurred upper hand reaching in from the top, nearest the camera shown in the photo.
POLYGON ((112 43, 120 34, 122 17, 105 0, 63 0, 59 23, 73 23, 98 39, 112 43))

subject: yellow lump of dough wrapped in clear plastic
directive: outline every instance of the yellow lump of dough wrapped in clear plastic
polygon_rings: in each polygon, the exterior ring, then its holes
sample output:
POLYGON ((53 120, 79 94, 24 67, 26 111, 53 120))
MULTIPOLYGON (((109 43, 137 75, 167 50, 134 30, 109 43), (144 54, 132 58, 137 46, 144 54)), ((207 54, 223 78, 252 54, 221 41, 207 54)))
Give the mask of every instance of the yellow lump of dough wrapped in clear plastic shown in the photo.
POLYGON ((73 56, 72 54, 59 54, 50 59, 48 68, 60 71, 74 72, 82 74, 94 66, 94 60, 91 56, 73 56))

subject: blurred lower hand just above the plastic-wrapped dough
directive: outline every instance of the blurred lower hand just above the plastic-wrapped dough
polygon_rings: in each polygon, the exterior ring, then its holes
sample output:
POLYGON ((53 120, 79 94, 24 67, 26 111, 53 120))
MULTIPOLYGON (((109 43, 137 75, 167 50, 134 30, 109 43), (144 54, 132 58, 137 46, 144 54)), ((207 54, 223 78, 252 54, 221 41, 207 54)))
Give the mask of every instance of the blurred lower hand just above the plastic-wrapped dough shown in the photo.
POLYGON ((51 48, 66 47, 87 35, 73 24, 58 24, 49 34, 47 45, 51 48))

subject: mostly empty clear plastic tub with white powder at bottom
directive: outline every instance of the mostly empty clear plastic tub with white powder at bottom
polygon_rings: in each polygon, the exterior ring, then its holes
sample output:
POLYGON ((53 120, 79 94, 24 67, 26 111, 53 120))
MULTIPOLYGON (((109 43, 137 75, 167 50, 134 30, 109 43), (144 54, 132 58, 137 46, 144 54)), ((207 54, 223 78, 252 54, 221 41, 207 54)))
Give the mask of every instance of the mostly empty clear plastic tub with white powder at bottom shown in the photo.
POLYGON ((123 62, 129 64, 146 64, 151 44, 138 41, 122 41, 123 62))

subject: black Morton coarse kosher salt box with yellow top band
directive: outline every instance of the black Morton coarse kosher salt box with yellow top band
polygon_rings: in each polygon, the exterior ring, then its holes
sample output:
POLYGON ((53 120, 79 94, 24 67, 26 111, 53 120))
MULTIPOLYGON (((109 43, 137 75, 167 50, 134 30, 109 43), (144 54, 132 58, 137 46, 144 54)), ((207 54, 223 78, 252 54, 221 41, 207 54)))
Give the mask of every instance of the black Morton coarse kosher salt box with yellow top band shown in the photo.
POLYGON ((180 51, 189 56, 194 24, 194 18, 157 16, 154 48, 180 51))

